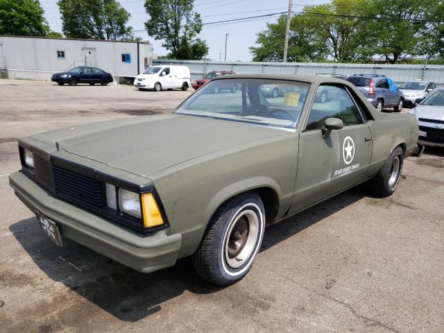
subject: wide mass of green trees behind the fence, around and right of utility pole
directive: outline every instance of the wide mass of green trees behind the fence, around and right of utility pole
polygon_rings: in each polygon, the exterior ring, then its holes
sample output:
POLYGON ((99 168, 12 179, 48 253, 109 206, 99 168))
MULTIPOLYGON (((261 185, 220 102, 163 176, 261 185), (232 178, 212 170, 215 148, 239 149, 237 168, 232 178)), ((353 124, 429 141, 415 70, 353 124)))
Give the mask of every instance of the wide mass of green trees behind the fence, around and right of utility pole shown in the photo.
MULTIPOLYGON (((288 61, 444 61, 442 0, 332 0, 291 18, 288 61), (419 60, 422 61, 423 60, 419 60)), ((282 60, 285 15, 257 34, 253 60, 282 60)))

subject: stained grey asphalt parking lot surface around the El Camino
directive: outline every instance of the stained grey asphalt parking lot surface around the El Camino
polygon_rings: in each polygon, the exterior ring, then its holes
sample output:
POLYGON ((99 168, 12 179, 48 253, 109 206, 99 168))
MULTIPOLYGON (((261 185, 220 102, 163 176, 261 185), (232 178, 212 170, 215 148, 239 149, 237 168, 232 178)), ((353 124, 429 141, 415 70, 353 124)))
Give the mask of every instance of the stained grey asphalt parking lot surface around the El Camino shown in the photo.
POLYGON ((189 259, 144 275, 46 239, 8 186, 17 138, 170 112, 189 94, 0 80, 2 332, 444 332, 440 149, 408 157, 389 198, 360 186, 267 228, 230 287, 200 280, 189 259))

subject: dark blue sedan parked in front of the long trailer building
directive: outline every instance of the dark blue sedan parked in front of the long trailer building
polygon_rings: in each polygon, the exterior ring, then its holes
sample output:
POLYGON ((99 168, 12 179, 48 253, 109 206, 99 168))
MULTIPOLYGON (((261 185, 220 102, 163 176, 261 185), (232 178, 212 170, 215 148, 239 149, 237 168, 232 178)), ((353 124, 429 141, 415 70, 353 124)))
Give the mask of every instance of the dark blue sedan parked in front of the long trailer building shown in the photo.
POLYGON ((112 83, 112 75, 100 68, 78 66, 68 71, 53 74, 51 81, 59 85, 65 85, 65 83, 69 85, 77 85, 78 83, 89 83, 89 85, 100 83, 101 85, 108 85, 108 83, 112 83))

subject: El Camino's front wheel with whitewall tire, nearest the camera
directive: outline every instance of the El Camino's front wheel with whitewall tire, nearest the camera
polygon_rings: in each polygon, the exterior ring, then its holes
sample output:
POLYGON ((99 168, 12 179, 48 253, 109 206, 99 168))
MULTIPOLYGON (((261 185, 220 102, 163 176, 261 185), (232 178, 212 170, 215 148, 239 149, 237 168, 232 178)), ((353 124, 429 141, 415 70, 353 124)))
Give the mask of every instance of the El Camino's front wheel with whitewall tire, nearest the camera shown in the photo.
POLYGON ((225 202, 214 213, 192 256, 197 273, 219 286, 244 278, 262 244, 264 228, 264 205, 255 192, 225 202))

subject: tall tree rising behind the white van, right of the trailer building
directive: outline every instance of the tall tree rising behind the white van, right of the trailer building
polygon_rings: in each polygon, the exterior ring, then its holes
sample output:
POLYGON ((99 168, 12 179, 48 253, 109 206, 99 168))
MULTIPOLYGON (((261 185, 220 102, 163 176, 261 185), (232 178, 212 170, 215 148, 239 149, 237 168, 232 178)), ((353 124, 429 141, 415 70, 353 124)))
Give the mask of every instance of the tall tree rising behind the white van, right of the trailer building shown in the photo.
POLYGON ((144 6, 150 17, 145 23, 148 35, 163 40, 171 58, 199 60, 206 56, 207 43, 196 38, 202 19, 193 11, 194 0, 146 0, 144 6))

